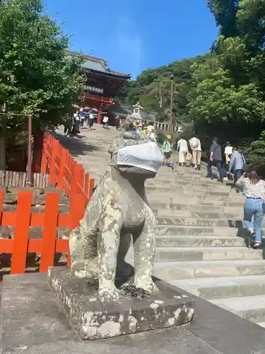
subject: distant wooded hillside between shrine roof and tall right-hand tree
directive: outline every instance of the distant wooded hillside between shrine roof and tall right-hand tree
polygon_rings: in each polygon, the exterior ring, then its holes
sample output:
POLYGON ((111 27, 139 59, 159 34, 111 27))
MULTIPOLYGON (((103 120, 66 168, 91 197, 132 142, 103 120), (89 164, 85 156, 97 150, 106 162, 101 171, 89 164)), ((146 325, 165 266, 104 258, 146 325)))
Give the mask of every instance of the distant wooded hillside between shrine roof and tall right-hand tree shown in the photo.
POLYGON ((160 120, 166 120, 166 113, 170 110, 170 89, 173 79, 173 114, 177 121, 187 122, 189 118, 189 91, 193 86, 194 66, 209 65, 215 54, 207 53, 204 56, 192 59, 179 60, 156 69, 147 69, 135 81, 129 81, 117 97, 119 103, 126 105, 140 101, 147 110, 159 113, 160 120))

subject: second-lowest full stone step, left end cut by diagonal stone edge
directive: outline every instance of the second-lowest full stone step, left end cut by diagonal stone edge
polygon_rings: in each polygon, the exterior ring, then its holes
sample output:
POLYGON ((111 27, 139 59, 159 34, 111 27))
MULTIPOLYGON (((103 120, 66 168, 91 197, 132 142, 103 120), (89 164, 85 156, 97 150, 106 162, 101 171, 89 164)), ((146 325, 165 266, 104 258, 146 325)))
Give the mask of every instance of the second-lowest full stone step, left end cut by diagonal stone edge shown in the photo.
POLYGON ((172 280, 172 285, 204 299, 265 296, 264 275, 172 280))

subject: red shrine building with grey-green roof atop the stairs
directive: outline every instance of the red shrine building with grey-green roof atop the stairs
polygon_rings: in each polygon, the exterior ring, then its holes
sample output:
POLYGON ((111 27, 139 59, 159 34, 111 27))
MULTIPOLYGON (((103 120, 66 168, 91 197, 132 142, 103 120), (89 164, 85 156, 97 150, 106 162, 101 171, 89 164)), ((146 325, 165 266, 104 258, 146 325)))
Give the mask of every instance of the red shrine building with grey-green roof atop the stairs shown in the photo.
MULTIPOLYGON (((81 55, 75 52, 72 55, 81 55)), ((107 60, 90 55, 81 55, 85 61, 81 65, 87 81, 81 95, 81 105, 88 108, 96 108, 99 112, 107 110, 112 105, 112 97, 117 96, 122 86, 131 79, 130 74, 114 72, 107 66, 107 60)))

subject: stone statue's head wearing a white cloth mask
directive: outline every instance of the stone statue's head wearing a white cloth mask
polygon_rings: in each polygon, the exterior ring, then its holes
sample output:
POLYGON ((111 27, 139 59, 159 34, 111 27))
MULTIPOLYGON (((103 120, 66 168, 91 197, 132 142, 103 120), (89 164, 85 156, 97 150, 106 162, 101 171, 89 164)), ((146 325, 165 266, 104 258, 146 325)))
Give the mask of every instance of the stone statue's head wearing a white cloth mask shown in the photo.
POLYGON ((138 173, 153 178, 165 158, 156 142, 142 132, 127 131, 113 139, 109 152, 110 165, 126 173, 138 173))

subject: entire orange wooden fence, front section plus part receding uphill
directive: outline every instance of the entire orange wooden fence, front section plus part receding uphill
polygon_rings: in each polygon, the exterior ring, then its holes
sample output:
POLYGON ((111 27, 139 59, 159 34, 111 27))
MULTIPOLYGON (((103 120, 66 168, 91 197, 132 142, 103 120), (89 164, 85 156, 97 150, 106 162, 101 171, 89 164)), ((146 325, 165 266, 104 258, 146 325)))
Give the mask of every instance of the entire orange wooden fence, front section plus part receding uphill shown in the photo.
POLYGON ((0 253, 11 253, 11 273, 25 273, 27 253, 40 253, 40 272, 54 265, 54 253, 68 253, 69 241, 57 239, 57 227, 78 227, 86 205, 93 194, 94 179, 90 179, 81 164, 57 139, 45 132, 42 149, 42 173, 49 173, 49 184, 56 185, 69 197, 69 214, 59 214, 59 193, 47 193, 45 212, 31 212, 33 193, 18 193, 16 212, 2 212, 4 192, 0 190, 0 225, 13 226, 13 239, 0 239, 0 253), (29 227, 43 227, 42 239, 29 239, 29 227))

